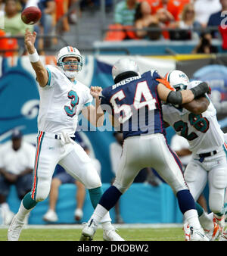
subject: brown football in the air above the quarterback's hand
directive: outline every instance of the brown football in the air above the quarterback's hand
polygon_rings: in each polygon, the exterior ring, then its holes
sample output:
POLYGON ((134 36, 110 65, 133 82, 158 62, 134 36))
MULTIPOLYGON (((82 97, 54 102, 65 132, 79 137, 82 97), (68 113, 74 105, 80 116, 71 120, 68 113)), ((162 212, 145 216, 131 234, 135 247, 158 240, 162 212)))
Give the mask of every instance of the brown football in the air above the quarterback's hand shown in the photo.
POLYGON ((39 8, 36 6, 30 6, 22 11, 21 20, 23 20, 23 23, 33 25, 40 20, 41 16, 42 13, 39 8))

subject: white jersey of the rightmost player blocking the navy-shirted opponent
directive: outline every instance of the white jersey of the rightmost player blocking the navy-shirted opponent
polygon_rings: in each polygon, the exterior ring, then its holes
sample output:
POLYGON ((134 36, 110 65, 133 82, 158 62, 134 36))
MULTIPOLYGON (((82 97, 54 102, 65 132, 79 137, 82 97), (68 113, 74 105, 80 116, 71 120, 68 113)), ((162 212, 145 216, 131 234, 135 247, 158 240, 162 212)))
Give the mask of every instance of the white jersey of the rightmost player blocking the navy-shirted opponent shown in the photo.
MULTIPOLYGON (((192 85, 189 83, 187 89, 191 88, 192 85)), ((207 111, 202 114, 193 114, 185 108, 163 105, 163 120, 173 126, 177 134, 188 139, 188 149, 195 154, 214 151, 224 143, 224 136, 216 119, 216 109, 211 101, 207 111)))

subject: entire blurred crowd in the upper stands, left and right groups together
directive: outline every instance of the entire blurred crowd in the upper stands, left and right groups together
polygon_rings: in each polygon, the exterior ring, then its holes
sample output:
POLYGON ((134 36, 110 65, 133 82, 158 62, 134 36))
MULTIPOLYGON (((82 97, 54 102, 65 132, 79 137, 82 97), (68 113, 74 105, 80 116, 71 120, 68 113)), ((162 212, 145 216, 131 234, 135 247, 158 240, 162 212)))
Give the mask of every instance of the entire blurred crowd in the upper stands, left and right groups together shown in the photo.
MULTIPOLYGON (((82 11, 95 13, 100 5, 101 0, 0 0, 0 19, 5 20, 4 29, 0 22, 0 48, 5 50, 5 56, 17 54, 18 48, 23 54, 23 35, 29 28, 38 33, 36 47, 42 54, 42 49, 58 43, 54 35, 70 31, 70 24, 77 23, 82 11), (26 25, 20 18, 29 6, 38 6, 42 11, 42 18, 35 25, 26 25)), ((105 0, 105 6, 106 11, 112 12, 113 22, 104 40, 200 39, 193 53, 209 54, 217 52, 211 41, 219 38, 222 47, 227 48, 226 28, 220 26, 225 19, 222 11, 227 11, 227 0, 105 0)))

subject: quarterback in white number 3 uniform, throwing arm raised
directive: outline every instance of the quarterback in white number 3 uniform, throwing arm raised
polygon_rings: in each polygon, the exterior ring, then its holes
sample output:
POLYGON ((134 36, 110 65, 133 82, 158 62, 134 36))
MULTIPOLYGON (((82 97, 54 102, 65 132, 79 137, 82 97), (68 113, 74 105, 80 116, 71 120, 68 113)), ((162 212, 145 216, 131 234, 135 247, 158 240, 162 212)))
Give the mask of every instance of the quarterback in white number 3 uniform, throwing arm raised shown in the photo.
MULTIPOLYGON (((30 62, 39 83, 39 116, 33 186, 20 203, 20 208, 8 229, 8 240, 18 240, 27 214, 39 201, 48 197, 51 178, 56 164, 60 164, 89 190, 95 208, 102 195, 101 180, 92 161, 83 148, 71 139, 77 126, 78 115, 86 114, 95 126, 103 123, 103 112, 98 114, 99 99, 92 105, 90 89, 76 80, 82 69, 78 49, 66 46, 57 55, 57 65, 43 66, 34 47, 36 33, 26 30, 24 42, 30 62), (86 110, 86 112, 84 112, 86 110)), ((99 90, 99 89, 95 89, 99 90)), ((104 240, 123 240, 110 223, 110 215, 101 220, 104 240)))

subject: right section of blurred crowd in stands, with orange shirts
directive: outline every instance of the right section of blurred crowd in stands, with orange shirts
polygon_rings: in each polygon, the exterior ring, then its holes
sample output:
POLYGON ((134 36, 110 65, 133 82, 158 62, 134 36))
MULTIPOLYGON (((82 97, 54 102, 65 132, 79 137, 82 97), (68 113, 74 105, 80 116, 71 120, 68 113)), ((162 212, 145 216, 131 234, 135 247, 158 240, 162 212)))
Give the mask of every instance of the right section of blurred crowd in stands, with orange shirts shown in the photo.
POLYGON ((212 38, 225 39, 227 0, 122 0, 105 40, 200 39, 193 53, 216 53, 212 38))

